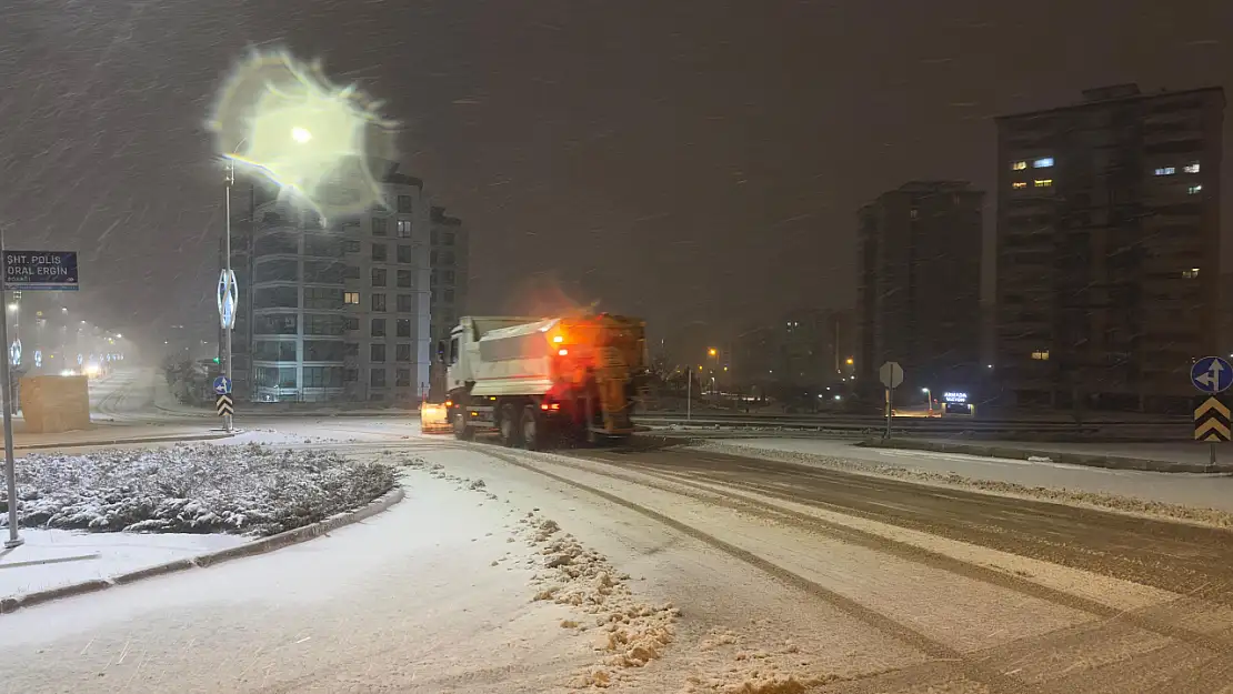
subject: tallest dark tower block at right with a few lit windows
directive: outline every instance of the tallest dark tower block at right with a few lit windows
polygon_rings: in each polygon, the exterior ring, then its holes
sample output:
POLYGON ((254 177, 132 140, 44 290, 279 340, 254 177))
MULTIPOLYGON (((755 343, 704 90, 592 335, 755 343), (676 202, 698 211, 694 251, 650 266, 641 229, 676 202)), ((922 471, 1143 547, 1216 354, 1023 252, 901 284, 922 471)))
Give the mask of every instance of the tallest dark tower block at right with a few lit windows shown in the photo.
POLYGON ((1189 412, 1219 348, 1219 88, 997 120, 994 366, 1017 406, 1189 412))

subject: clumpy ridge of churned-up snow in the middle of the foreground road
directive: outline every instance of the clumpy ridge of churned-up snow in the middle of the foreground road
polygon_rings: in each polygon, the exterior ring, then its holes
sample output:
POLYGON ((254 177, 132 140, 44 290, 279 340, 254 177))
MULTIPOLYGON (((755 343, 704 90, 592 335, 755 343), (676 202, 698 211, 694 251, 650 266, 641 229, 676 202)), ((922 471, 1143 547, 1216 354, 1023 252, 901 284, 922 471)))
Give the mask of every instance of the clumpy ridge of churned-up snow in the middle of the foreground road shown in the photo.
POLYGON ((662 656, 681 610, 637 600, 629 589, 629 576, 616 574, 607 558, 562 534, 556 521, 529 513, 522 524, 547 569, 533 578, 539 588, 535 599, 570 605, 587 615, 589 619, 567 620, 561 626, 592 632, 594 650, 603 655, 598 667, 578 678, 577 687, 609 687, 624 679, 621 671, 645 667, 662 656))

